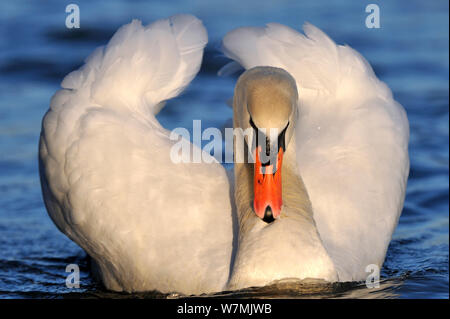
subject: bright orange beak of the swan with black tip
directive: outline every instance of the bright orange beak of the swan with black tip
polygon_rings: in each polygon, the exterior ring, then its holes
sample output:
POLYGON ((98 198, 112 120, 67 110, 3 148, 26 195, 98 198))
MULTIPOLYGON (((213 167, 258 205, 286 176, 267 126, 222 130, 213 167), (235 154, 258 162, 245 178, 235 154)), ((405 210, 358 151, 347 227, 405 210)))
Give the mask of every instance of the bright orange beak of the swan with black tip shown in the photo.
POLYGON ((253 209, 259 218, 271 223, 280 217, 283 205, 281 197, 283 149, 280 147, 278 150, 276 166, 273 163, 263 166, 260 152, 261 146, 258 146, 255 156, 253 209))

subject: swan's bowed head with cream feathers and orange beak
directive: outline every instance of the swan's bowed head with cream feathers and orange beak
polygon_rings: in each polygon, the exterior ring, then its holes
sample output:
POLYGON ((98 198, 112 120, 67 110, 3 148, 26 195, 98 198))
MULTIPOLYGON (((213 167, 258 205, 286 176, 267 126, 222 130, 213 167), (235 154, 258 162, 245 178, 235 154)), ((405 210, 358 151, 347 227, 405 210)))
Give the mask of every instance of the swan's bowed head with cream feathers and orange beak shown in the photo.
POLYGON ((253 133, 252 143, 246 140, 254 160, 253 210, 268 223, 281 215, 283 155, 294 132, 297 101, 294 78, 280 68, 249 69, 236 85, 239 125, 253 133))

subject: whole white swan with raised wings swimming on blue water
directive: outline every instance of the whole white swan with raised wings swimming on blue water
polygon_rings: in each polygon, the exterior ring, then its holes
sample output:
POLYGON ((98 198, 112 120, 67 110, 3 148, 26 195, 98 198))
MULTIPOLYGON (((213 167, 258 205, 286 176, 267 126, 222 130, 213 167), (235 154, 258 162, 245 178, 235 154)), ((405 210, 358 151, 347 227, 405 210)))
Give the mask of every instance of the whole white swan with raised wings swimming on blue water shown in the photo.
POLYGON ((235 164, 234 197, 219 163, 173 163, 155 118, 199 70, 207 35, 195 17, 133 21, 65 77, 42 123, 42 191, 106 288, 198 294, 362 280, 381 266, 405 195, 406 115, 359 54, 305 32, 270 24, 224 38, 237 63, 265 66, 239 79, 234 126, 287 127, 257 198, 253 164, 235 164))

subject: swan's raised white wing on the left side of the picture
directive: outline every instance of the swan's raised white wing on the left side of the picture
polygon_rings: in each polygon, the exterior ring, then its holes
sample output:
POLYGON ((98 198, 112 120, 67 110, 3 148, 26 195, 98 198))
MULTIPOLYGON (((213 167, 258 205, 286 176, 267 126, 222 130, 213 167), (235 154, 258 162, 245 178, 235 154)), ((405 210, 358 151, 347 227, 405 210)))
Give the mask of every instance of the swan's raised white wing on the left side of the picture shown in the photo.
POLYGON ((206 43, 190 15, 134 20, 64 78, 43 119, 48 213, 109 289, 200 293, 228 279, 226 172, 206 153, 210 164, 177 163, 179 139, 155 118, 197 74, 206 43))

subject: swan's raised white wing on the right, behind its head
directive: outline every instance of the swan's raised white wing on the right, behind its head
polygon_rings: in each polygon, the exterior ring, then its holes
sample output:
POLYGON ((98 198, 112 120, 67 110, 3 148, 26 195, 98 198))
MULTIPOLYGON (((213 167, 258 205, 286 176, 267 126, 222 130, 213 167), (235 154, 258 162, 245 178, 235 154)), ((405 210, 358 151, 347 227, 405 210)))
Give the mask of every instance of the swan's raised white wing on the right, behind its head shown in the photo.
POLYGON ((296 79, 299 173, 340 280, 362 280, 366 266, 381 267, 403 207, 409 124, 359 53, 311 24, 304 32, 239 28, 223 52, 246 69, 280 67, 296 79))

